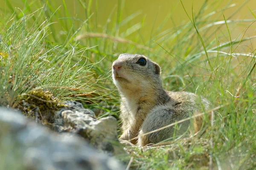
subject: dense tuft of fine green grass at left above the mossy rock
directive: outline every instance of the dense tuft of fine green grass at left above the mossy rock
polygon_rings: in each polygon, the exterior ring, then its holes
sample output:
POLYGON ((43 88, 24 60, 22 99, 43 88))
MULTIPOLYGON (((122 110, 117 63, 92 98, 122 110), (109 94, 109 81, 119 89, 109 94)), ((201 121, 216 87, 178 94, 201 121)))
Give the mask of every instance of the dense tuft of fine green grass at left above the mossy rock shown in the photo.
POLYGON ((0 104, 16 107, 23 95, 39 88, 60 98, 96 90, 89 79, 95 74, 94 63, 84 55, 88 48, 78 49, 76 43, 53 45, 49 41, 52 23, 44 18, 43 9, 20 19, 16 16, 2 21, 0 104))

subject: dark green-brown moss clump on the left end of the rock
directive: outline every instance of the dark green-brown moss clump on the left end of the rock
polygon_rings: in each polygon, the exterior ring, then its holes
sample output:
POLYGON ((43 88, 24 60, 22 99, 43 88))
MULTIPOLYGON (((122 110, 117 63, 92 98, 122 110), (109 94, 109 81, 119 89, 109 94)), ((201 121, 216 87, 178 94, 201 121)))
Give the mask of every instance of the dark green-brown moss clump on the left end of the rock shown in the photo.
POLYGON ((42 89, 23 94, 18 104, 18 109, 24 115, 37 119, 42 124, 53 123, 54 113, 61 107, 65 107, 65 105, 58 98, 55 98, 52 93, 42 89))

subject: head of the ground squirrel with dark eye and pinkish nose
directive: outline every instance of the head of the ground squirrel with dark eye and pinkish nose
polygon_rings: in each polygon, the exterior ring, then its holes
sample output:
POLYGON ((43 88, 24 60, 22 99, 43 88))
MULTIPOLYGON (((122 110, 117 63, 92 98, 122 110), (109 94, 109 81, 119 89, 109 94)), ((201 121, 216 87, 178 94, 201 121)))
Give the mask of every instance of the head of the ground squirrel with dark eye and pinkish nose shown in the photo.
POLYGON ((113 62, 113 82, 121 93, 162 88, 160 66, 144 55, 121 54, 113 62))

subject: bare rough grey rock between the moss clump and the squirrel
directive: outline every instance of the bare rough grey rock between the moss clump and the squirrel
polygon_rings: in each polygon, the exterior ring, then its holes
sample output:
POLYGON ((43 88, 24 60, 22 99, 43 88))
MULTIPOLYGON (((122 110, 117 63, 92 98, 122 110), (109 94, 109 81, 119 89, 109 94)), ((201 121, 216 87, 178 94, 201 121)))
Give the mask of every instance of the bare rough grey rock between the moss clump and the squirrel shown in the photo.
POLYGON ((108 116, 96 119, 90 109, 84 109, 80 103, 75 101, 65 101, 64 105, 67 107, 55 113, 53 130, 59 133, 77 133, 109 155, 125 154, 117 138, 116 118, 108 116))

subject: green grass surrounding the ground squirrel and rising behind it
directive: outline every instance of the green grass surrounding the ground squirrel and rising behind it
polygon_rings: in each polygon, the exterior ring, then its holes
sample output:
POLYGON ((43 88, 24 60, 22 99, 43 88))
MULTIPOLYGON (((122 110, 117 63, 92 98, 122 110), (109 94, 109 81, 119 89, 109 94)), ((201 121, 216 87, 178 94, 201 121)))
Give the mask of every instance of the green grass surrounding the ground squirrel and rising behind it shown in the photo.
POLYGON ((131 161, 130 168, 143 170, 256 169, 253 9, 248 9, 252 19, 233 20, 242 6, 226 16, 225 11, 234 8, 231 1, 219 6, 217 0, 206 0, 193 14, 180 1, 177 4, 190 21, 163 30, 168 15, 145 41, 144 20, 131 25, 139 13, 122 19, 122 1, 109 16, 113 25, 106 22, 100 29, 90 12, 91 0, 76 1, 83 7, 85 20, 70 17, 64 0, 60 9, 53 1, 23 1, 22 10, 5 2, 0 23, 0 105, 17 108, 24 96, 44 89, 60 100, 81 101, 98 117, 118 118, 119 95, 111 83, 111 63, 120 53, 140 53, 160 64, 165 89, 195 92, 211 101, 215 110, 201 138, 144 149, 127 147, 129 157, 120 159, 131 161), (128 29, 122 32, 124 27, 128 29))

